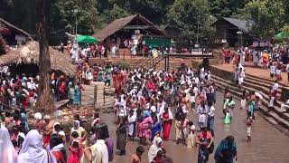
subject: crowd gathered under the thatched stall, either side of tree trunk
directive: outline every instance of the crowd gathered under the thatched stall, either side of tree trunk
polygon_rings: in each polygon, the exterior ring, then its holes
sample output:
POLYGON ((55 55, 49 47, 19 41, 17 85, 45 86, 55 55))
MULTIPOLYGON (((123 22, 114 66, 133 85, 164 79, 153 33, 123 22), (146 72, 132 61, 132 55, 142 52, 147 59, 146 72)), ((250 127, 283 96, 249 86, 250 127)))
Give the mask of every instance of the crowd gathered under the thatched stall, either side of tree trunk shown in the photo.
MULTIPOLYGON (((9 68, 1 68, 0 109, 33 108, 37 101, 40 77, 37 74, 11 74, 9 68)), ((51 92, 54 101, 70 100, 79 105, 81 101, 81 81, 58 72, 51 73, 51 92)))

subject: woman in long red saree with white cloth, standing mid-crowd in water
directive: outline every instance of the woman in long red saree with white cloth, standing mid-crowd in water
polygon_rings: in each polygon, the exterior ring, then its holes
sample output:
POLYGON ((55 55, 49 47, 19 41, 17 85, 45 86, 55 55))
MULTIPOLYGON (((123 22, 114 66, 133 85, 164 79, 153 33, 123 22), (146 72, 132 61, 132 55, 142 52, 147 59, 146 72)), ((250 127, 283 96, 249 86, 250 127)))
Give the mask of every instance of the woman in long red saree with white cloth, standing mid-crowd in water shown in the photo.
POLYGON ((165 106, 164 112, 161 115, 163 120, 163 139, 168 141, 172 127, 172 111, 167 106, 165 106))

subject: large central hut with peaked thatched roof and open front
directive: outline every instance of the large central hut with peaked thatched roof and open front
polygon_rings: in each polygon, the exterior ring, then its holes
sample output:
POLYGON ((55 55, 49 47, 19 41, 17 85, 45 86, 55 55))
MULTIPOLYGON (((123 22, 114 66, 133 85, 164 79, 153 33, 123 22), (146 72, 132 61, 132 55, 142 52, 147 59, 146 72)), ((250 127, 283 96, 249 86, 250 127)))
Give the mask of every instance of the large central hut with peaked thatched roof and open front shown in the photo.
POLYGON ((119 18, 107 24, 92 36, 98 38, 98 41, 103 43, 108 49, 116 45, 117 48, 119 48, 120 55, 130 55, 132 51, 131 48, 135 46, 136 53, 144 53, 144 47, 148 46, 144 41, 145 38, 148 40, 147 43, 154 42, 154 45, 160 43, 160 40, 170 40, 162 29, 141 14, 133 14, 119 18), (158 42, 156 42, 156 40, 158 40, 158 42), (131 44, 129 42, 131 42, 131 44))

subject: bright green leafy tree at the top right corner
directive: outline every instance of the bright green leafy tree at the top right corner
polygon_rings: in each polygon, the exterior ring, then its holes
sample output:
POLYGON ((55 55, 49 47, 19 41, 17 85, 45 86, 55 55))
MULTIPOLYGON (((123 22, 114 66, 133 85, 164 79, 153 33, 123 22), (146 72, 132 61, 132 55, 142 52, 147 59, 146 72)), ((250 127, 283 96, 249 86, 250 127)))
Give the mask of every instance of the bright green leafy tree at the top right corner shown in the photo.
POLYGON ((252 33, 271 39, 284 24, 284 5, 281 0, 253 0, 245 6, 248 20, 254 21, 252 33))

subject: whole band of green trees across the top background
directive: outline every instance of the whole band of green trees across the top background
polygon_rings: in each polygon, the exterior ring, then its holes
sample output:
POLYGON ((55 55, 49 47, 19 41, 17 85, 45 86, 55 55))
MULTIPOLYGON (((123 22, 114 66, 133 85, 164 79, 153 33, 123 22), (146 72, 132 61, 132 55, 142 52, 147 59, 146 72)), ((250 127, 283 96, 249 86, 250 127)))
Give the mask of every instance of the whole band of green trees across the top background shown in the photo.
MULTIPOLYGON (((0 16, 37 36, 37 0, 1 0, 0 16)), ((255 22, 252 33, 271 38, 289 24, 288 0, 50 0, 49 34, 51 43, 59 43, 65 32, 73 33, 78 19, 79 34, 93 34, 117 18, 142 14, 157 25, 174 25, 181 37, 196 42, 198 20, 200 41, 214 33, 210 15, 235 17, 255 22), (78 9, 76 14, 73 12, 78 9)))

